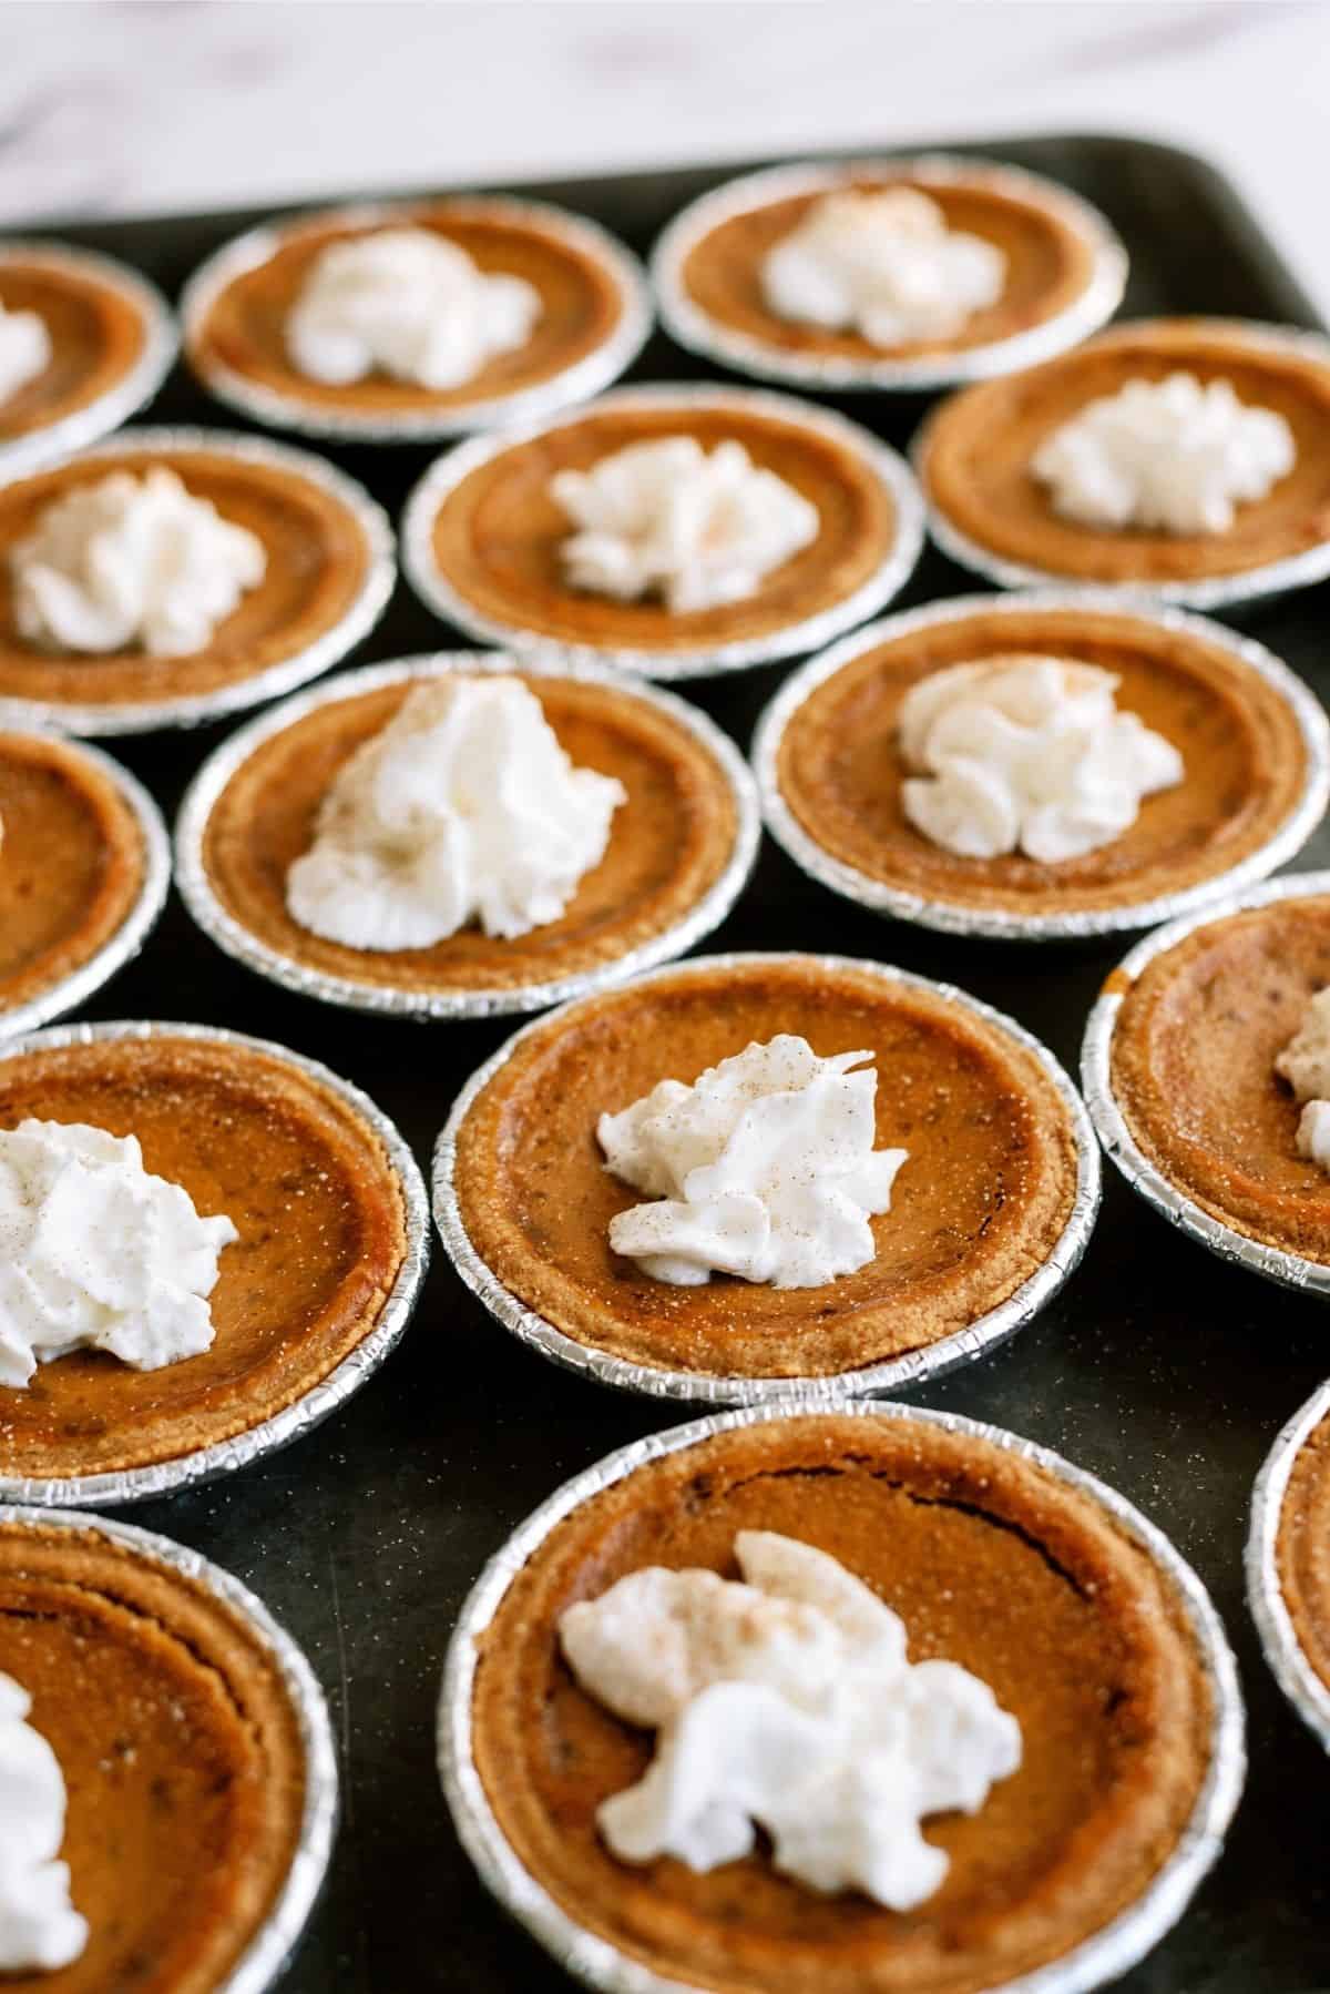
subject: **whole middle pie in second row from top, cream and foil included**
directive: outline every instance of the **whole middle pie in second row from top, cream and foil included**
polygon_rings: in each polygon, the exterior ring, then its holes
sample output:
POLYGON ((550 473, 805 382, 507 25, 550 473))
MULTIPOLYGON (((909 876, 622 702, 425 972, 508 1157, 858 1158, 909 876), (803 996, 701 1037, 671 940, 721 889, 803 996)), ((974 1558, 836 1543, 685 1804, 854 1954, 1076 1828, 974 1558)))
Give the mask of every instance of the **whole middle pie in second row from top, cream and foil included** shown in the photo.
POLYGON ((652 678, 812 650, 881 608, 919 544, 893 451, 750 389, 620 389, 475 439, 427 471, 403 514, 407 578, 447 622, 652 678))

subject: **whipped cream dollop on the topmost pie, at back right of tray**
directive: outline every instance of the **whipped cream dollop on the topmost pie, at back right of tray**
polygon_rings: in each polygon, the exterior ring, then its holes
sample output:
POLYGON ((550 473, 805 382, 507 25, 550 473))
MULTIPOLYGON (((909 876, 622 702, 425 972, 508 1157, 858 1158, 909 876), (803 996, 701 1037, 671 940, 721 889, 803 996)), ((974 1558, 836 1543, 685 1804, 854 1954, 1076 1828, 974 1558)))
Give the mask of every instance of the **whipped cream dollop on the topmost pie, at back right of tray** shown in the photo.
POLYGON ((1003 251, 949 229, 917 187, 824 193, 762 263, 778 317, 855 331, 875 347, 953 339, 997 303, 1005 277, 1003 251))

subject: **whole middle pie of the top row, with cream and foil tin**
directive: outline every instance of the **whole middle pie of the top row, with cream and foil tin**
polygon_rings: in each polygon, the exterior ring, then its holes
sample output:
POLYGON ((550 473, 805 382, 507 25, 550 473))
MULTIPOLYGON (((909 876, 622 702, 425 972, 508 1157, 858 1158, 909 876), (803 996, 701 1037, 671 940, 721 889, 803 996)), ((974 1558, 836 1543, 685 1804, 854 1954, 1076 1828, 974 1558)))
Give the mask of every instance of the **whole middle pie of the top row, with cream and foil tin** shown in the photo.
POLYGON ((365 443, 431 441, 582 401, 618 379, 650 329, 642 271, 612 235, 499 195, 341 207, 253 229, 203 263, 181 313, 185 357, 219 401, 261 423, 365 443), (365 245, 369 257, 347 261, 365 245), (301 337, 317 283, 327 347, 301 337), (465 349, 497 285, 495 337, 465 349), (431 339, 447 343, 447 359, 431 339))

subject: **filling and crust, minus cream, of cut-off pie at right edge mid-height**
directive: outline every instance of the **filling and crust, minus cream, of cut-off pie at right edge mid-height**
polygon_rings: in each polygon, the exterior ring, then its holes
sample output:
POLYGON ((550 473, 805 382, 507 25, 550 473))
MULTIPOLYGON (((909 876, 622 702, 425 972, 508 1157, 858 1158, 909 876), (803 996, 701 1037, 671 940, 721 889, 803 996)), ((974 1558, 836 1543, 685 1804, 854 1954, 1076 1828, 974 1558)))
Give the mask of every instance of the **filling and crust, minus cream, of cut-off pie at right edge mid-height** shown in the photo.
POLYGON ((1111 1047, 1117 1105, 1155 1168, 1212 1218, 1322 1262, 1330 1176, 1298 1157, 1302 1109, 1274 1061, 1328 983, 1330 899, 1250 907, 1147 963, 1111 1047))

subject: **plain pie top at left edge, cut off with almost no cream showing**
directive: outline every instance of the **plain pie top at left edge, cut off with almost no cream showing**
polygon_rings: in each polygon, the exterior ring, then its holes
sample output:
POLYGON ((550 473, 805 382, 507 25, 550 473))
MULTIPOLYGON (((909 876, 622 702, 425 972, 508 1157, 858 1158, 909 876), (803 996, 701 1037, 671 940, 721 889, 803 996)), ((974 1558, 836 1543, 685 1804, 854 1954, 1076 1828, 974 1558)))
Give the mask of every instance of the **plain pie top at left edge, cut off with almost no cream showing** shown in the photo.
POLYGON ((146 875, 144 833, 74 742, 0 734, 0 1019, 82 969, 146 875))

